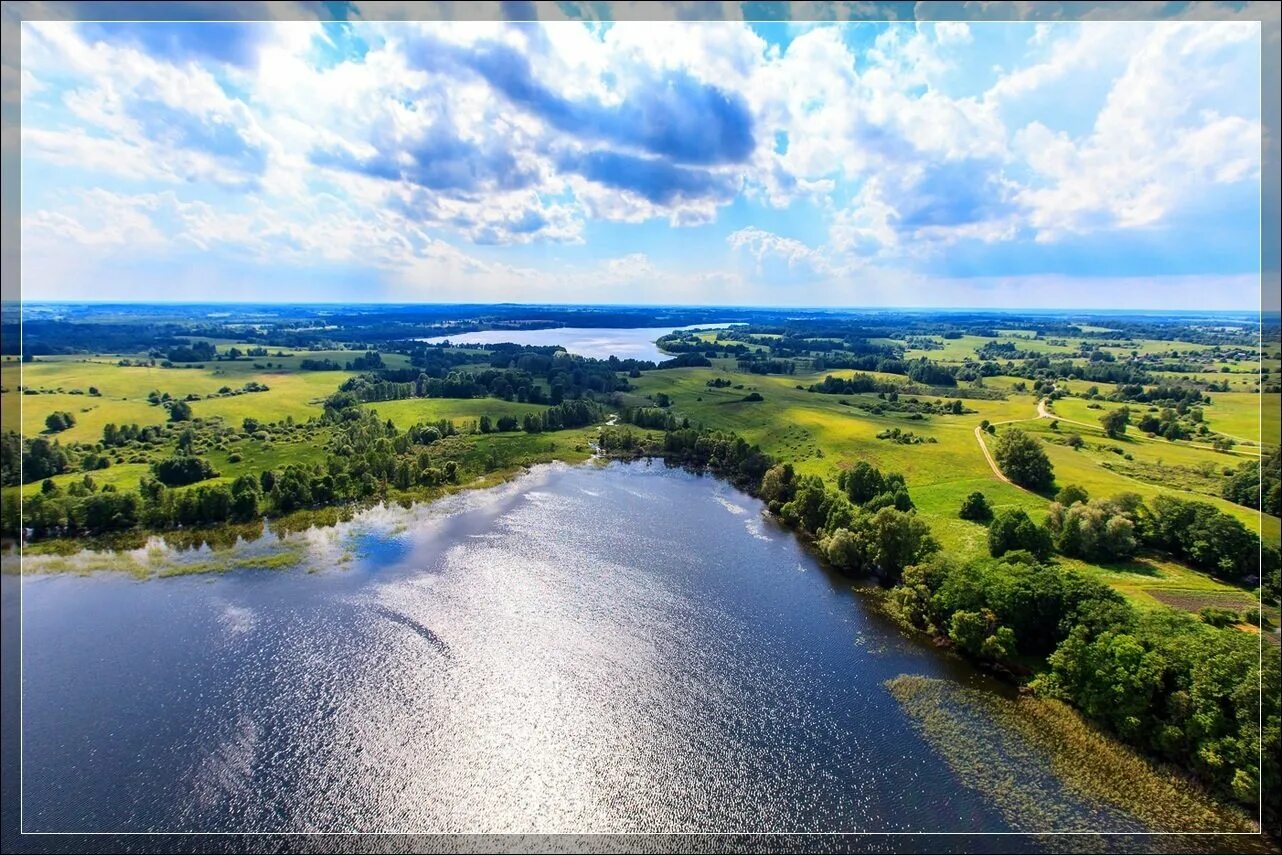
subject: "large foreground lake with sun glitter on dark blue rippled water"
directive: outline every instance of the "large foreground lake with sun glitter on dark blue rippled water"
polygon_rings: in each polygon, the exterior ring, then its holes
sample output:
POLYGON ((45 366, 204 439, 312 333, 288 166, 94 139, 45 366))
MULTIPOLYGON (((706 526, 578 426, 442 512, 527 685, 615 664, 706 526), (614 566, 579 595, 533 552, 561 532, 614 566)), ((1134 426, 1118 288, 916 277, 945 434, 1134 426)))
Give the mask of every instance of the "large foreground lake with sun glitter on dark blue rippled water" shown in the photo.
POLYGON ((1140 828, 978 708, 968 732, 1053 813, 959 774, 886 681, 1000 687, 762 511, 658 463, 547 465, 287 535, 296 569, 28 576, 24 827, 1140 828))

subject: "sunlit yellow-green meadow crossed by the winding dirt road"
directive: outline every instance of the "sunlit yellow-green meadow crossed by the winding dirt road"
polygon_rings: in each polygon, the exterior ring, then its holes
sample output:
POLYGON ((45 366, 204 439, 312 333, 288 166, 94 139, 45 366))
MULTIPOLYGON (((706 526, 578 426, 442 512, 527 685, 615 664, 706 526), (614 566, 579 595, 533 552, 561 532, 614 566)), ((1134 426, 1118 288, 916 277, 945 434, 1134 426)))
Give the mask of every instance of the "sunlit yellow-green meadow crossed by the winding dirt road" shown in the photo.
MULTIPOLYGON (((1223 468, 1235 467, 1244 459, 1194 449, 1188 444, 1170 444, 1165 440, 1149 441, 1127 437, 1119 444, 1106 440, 1099 427, 1076 428, 1061 423, 1056 432, 1050 428, 1050 419, 1037 418, 1037 399, 1031 394, 1011 394, 1006 400, 965 400, 965 406, 977 410, 976 413, 929 415, 917 420, 901 413, 874 415, 854 406, 859 403, 876 403, 876 395, 820 395, 796 388, 822 381, 827 374, 849 377, 853 373, 850 370, 833 370, 819 374, 762 377, 728 369, 710 372, 708 369, 681 368, 649 372, 636 381, 637 392, 628 396, 628 403, 646 405, 651 403, 647 400, 649 397, 664 392, 672 399, 672 411, 676 415, 687 417, 695 424, 703 423, 709 427, 732 429, 749 441, 760 444, 767 452, 794 461, 803 473, 835 479, 841 468, 858 460, 867 460, 882 469, 901 472, 908 479, 913 501, 923 517, 929 519, 935 536, 946 551, 958 556, 979 555, 987 549, 987 528, 959 519, 956 515, 962 500, 969 492, 982 491, 996 509, 1022 508, 1035 519, 1041 519, 1047 508, 1047 500, 1004 483, 992 473, 974 437, 974 428, 982 419, 988 419, 992 423, 1019 422, 1019 427, 1047 440, 1045 446, 1055 465, 1056 482, 1060 486, 1081 485, 1096 497, 1135 492, 1151 499, 1169 491, 1169 487, 1140 481, 1105 468, 1105 464, 1113 465, 1122 458, 1109 450, 1095 447, 1099 445, 1122 445, 1124 451, 1132 455, 1133 461, 1153 465, 1159 460, 1164 465, 1188 467, 1210 461, 1223 468), (726 377, 736 385, 742 383, 744 387, 710 388, 706 386, 706 381, 714 376, 726 377), (764 400, 744 401, 742 397, 751 391, 759 392, 764 400), (842 400, 849 401, 849 405, 844 405, 842 400), (901 431, 912 431, 918 436, 936 441, 920 445, 897 445, 878 440, 877 433, 888 427, 899 427, 901 431), (1054 441, 1070 432, 1078 432, 1087 438, 1087 447, 1074 451, 1054 441)), ((895 379, 903 381, 901 377, 895 379)), ((986 385, 991 388, 1009 387, 1010 385, 1001 381, 990 383, 988 381, 992 379, 995 378, 986 378, 986 385)), ((903 396, 903 400, 909 397, 903 396)), ((1220 395, 1219 397, 1229 396, 1220 395)), ((1063 399, 1056 403, 1056 406, 1068 401, 1086 404, 1081 399, 1063 399)), ((1233 406, 1245 406, 1245 403, 1235 400, 1233 406)), ((1083 413, 1090 414, 1091 420, 1097 426, 1097 410, 1083 409, 1083 413)), ((1083 418, 1085 420, 1087 419, 1083 418)), ((1242 520, 1253 531, 1261 528, 1260 515, 1256 511, 1226 501, 1218 495, 1200 492, 1177 495, 1208 501, 1242 520)), ((1263 536, 1270 542, 1278 541, 1277 518, 1263 518, 1263 536)), ((1073 563, 1090 568, 1079 561, 1073 563)), ((1118 579, 1129 579, 1132 583, 1119 585, 1119 590, 1123 590, 1128 596, 1149 597, 1150 604, 1154 601, 1145 591, 1163 586, 1172 590, 1194 588, 1219 592, 1224 596, 1242 594, 1240 588, 1223 585, 1172 563, 1146 559, 1142 564, 1137 563, 1137 567, 1141 565, 1145 568, 1151 565, 1156 569, 1151 573, 1135 568, 1129 570, 1091 569, 1095 573, 1111 573, 1118 579), (1191 581, 1196 581, 1196 585, 1191 581)), ((1113 579, 1110 578, 1110 581, 1113 579)))

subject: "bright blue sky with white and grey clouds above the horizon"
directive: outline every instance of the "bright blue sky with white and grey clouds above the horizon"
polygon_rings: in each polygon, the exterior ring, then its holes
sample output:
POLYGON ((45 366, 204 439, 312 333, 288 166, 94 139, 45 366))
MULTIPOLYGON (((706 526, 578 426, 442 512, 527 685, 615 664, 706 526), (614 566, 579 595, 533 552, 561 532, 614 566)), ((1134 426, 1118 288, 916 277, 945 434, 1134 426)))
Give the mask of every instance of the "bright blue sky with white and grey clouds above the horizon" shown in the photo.
POLYGON ((27 300, 1260 303, 1255 22, 21 37, 27 300))

